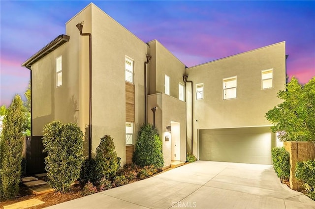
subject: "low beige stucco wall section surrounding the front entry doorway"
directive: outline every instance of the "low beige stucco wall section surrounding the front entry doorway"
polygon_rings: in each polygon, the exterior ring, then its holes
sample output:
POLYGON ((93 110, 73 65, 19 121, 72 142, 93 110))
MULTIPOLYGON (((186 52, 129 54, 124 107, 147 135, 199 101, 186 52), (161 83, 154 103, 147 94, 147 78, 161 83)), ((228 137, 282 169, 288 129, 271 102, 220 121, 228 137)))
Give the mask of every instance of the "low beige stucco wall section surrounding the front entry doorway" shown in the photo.
POLYGON ((157 107, 156 110, 156 128, 162 141, 164 166, 169 166, 172 161, 172 138, 165 140, 167 126, 171 122, 180 124, 180 161, 186 161, 186 104, 177 98, 171 97, 164 93, 157 93, 148 96, 148 123, 153 124, 153 112, 151 108, 157 107))

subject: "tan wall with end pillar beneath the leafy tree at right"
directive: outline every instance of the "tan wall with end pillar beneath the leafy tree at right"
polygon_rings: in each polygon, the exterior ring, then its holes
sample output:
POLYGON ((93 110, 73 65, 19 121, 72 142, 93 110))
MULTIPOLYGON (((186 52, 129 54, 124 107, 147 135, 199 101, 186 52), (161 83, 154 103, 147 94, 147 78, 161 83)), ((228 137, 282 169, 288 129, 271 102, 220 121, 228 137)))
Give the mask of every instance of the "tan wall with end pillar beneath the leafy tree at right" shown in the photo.
POLYGON ((293 190, 299 190, 303 184, 295 178, 296 162, 315 159, 315 142, 308 141, 286 141, 284 149, 290 154, 290 186, 293 190))

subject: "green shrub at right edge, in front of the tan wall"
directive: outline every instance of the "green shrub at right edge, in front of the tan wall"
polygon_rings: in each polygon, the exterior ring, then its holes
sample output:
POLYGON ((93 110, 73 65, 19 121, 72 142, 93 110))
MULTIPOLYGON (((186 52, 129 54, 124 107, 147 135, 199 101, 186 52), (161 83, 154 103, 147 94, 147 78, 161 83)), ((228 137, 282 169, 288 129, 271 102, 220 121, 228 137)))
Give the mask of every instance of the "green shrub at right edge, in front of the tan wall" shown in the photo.
POLYGON ((315 160, 297 162, 295 177, 304 183, 308 196, 315 200, 315 160))

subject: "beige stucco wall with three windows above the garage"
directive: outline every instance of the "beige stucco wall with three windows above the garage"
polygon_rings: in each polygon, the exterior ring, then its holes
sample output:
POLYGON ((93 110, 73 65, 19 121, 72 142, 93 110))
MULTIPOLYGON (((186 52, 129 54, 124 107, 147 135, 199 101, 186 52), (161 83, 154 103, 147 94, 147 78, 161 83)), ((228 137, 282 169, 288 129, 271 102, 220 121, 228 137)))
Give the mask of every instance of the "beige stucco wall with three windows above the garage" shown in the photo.
MULTIPOLYGON (((271 125, 264 116, 281 103, 277 92, 285 87, 285 42, 187 68, 186 74, 193 81, 193 153, 197 154, 199 129, 271 125), (261 71, 271 68, 273 88, 262 90, 261 71), (234 76, 237 76, 237 98, 223 100, 222 79, 234 76), (197 83, 204 84, 202 100, 195 100, 197 83)), ((187 105, 191 111, 191 101, 187 100, 187 105)), ((187 121, 191 121, 191 115, 187 121)))

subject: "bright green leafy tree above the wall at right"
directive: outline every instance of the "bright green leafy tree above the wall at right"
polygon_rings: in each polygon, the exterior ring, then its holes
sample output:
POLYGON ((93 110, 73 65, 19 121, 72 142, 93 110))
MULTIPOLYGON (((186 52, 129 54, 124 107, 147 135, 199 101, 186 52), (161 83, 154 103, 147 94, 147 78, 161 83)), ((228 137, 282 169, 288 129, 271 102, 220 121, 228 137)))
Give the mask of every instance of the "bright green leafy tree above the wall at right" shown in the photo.
POLYGON ((315 141, 315 77, 304 86, 293 77, 278 98, 284 102, 266 113, 272 131, 281 141, 315 141))

